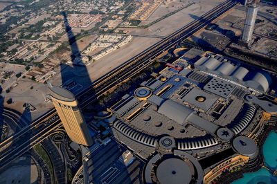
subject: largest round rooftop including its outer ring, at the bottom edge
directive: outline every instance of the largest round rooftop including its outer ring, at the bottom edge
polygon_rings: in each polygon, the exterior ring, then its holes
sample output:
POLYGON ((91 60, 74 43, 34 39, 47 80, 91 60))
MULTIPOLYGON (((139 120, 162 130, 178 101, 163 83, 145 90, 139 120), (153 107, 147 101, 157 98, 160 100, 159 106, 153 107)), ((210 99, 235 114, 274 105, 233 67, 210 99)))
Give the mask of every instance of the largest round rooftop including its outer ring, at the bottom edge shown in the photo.
MULTIPOLYGON (((166 140, 168 137, 163 138, 166 140)), ((203 178, 204 172, 199 162, 180 150, 173 151, 173 154, 156 154, 144 167, 145 183, 200 184, 203 178)))

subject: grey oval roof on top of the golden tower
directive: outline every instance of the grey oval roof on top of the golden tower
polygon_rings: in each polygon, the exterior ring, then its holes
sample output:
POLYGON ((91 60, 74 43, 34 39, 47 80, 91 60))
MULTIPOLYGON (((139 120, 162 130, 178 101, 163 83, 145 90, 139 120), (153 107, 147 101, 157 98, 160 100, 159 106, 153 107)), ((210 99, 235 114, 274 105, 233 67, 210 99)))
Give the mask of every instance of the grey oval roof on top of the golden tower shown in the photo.
POLYGON ((57 100, 62 100, 66 102, 75 101, 75 96, 67 89, 64 89, 60 86, 52 86, 49 87, 49 89, 51 91, 51 96, 53 96, 53 98, 56 98, 57 100))

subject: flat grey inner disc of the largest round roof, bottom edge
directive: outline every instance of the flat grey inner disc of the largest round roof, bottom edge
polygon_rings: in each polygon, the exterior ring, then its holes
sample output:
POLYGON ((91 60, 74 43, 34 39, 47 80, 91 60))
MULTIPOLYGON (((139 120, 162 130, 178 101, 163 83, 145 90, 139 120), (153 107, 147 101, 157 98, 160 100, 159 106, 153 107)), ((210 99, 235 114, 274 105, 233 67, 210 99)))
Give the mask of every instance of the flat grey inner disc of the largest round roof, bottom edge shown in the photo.
POLYGON ((193 167, 179 158, 163 160, 157 167, 157 179, 159 183, 190 183, 194 173, 193 167), (192 170, 191 170, 192 169, 192 170))

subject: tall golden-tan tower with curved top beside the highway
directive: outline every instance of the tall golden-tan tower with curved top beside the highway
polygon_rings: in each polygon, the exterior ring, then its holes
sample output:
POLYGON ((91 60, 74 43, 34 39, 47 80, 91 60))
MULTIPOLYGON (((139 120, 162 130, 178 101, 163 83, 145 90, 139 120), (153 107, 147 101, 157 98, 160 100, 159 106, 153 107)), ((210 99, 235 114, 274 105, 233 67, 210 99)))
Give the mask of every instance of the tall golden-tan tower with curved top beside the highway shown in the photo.
POLYGON ((89 129, 73 93, 59 86, 50 85, 49 89, 57 114, 71 140, 80 145, 92 145, 89 129))

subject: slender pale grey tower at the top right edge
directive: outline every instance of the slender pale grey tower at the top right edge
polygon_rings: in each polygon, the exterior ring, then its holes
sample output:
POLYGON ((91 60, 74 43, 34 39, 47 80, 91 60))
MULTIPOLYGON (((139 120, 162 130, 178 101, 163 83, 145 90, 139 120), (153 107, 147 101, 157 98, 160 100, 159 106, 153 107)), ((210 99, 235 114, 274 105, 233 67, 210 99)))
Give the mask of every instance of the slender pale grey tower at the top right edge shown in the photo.
POLYGON ((253 29, 258 12, 258 1, 253 1, 250 6, 247 8, 247 17, 244 21, 244 29, 242 33, 242 42, 249 43, 252 38, 253 29))

